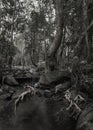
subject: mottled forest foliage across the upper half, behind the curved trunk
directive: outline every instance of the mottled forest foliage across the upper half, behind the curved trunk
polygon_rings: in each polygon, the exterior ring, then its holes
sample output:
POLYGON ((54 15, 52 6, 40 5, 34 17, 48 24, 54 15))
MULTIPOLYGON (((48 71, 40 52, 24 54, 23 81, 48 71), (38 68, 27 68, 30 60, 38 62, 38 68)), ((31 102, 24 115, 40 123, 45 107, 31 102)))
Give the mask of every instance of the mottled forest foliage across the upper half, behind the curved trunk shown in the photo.
MULTIPOLYGON (((79 39, 93 20, 93 2, 86 0, 86 10, 84 0, 61 1, 61 4, 63 36, 56 53, 58 64, 64 64, 64 61, 71 62, 74 54, 80 59, 90 58, 92 61, 93 27, 87 33, 88 42, 86 35, 81 40, 79 39), (84 20, 85 12, 86 20, 84 20), (87 24, 85 21, 88 21, 87 24), (75 53, 74 48, 77 50, 75 53)), ((55 41, 57 22, 56 1, 54 0, 1 0, 0 53, 6 58, 11 55, 15 56, 17 35, 21 33, 25 40, 25 53, 22 57, 29 55, 34 65, 37 65, 39 61, 46 61, 48 50, 55 41)))

